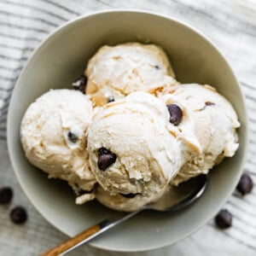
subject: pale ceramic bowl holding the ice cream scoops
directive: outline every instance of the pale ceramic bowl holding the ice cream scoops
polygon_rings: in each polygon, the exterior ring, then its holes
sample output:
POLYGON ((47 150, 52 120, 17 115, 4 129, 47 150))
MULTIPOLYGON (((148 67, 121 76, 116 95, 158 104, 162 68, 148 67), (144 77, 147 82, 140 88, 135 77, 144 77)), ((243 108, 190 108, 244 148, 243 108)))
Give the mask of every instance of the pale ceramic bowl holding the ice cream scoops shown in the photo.
POLYGON ((69 87, 96 49, 132 41, 165 49, 178 81, 215 86, 236 108, 241 129, 236 156, 211 172, 207 191, 191 207, 176 213, 142 212, 90 242, 123 252, 164 247, 188 236, 212 218, 235 189, 247 149, 247 113, 224 56, 201 33, 166 16, 126 10, 82 16, 58 28, 34 52, 15 85, 8 117, 9 156, 21 187, 38 212, 67 236, 96 224, 111 211, 96 201, 76 206, 67 183, 49 180, 30 165, 20 145, 20 120, 38 96, 50 88, 69 87))

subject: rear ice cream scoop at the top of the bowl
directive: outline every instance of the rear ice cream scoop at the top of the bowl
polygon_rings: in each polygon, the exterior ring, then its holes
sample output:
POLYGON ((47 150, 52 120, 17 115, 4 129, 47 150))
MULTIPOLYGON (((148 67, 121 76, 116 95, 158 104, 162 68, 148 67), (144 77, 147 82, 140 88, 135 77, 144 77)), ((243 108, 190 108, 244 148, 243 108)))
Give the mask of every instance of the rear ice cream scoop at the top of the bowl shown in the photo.
POLYGON ((133 91, 154 94, 177 83, 166 53, 154 44, 103 46, 90 59, 85 75, 88 78, 86 94, 96 106, 133 91))

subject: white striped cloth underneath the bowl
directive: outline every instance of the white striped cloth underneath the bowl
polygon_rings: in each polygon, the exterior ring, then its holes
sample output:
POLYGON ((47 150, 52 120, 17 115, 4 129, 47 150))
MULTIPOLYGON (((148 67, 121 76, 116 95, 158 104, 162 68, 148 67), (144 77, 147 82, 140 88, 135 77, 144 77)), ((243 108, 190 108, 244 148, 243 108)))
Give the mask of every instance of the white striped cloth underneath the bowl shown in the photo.
MULTIPOLYGON (((15 189, 8 206, 0 206, 0 255, 38 255, 67 237, 32 207, 20 190, 6 145, 6 116, 10 92, 32 50, 56 26, 78 15, 103 9, 146 9, 183 20, 204 32, 234 68, 246 96, 250 146, 245 171, 256 181, 256 1, 254 0, 0 0, 0 187, 15 189), (25 206, 29 219, 12 224, 9 210, 25 206)), ((234 225, 219 231, 213 221, 170 247, 143 253, 106 252, 88 245, 69 255, 256 255, 256 192, 241 200, 232 195, 224 207, 234 225)))

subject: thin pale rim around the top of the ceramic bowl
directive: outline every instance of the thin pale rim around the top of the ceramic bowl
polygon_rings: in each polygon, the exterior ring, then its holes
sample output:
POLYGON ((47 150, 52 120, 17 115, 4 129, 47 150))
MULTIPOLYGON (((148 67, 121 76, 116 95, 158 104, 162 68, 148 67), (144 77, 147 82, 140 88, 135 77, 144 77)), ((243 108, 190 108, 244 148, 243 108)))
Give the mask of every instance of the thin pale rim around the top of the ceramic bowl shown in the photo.
MULTIPOLYGON (((8 112, 8 118, 7 118, 7 144, 8 144, 8 151, 9 151, 9 159, 11 162, 11 166, 15 172, 15 177, 17 178, 21 189, 23 190, 23 192, 25 193, 26 197, 28 198, 28 200, 30 201, 30 203, 32 204, 33 207, 35 207, 35 209, 38 211, 38 213, 40 213, 40 215, 53 227, 55 227, 56 230, 59 230, 62 234, 69 236, 69 234, 67 234, 67 232, 65 232, 64 230, 61 230, 59 227, 57 227, 55 225, 55 223, 53 223, 49 218, 47 218, 44 215, 44 212, 41 212, 39 207, 37 206, 36 202, 32 200, 31 195, 26 191, 26 187, 25 185, 21 182, 20 179, 20 174, 18 172, 19 170, 19 166, 15 163, 15 157, 13 156, 10 148, 11 148, 11 138, 10 138, 10 133, 9 133, 9 129, 11 127, 11 118, 10 116, 12 115, 12 113, 14 112, 13 108, 14 107, 14 95, 15 95, 15 89, 16 89, 16 84, 20 83, 20 78, 24 75, 24 73, 26 72, 26 67, 28 65, 28 63, 30 61, 32 61, 32 59, 35 57, 35 55, 37 55, 38 50, 40 50, 45 43, 47 43, 51 38, 53 38, 56 34, 58 34, 59 32, 62 32, 63 30, 65 30, 68 26, 73 25, 76 22, 79 22, 79 20, 84 20, 87 18, 90 18, 92 16, 97 16, 97 15, 106 15, 106 14, 115 14, 115 13, 130 13, 130 14, 136 14, 136 15, 153 15, 162 19, 166 19, 166 20, 172 20, 175 23, 177 23, 180 26, 184 26, 186 28, 189 28, 190 31, 194 32, 195 34, 197 34, 200 38, 202 38, 203 40, 205 40, 207 42, 207 44, 210 44, 212 46, 212 48, 216 51, 216 53, 219 55, 219 57, 222 59, 222 61, 224 61, 225 65, 227 65, 227 67, 230 68, 230 73, 232 74, 233 78, 236 81, 237 89, 240 92, 241 95, 241 104, 242 106, 244 106, 245 108, 245 115, 244 115, 244 120, 245 123, 247 125, 245 125, 245 131, 244 131, 244 135, 245 135, 245 139, 244 139, 244 153, 242 154, 242 159, 241 159, 241 170, 239 172, 239 176, 241 176, 241 173, 243 172, 243 166, 245 166, 245 162, 246 162, 246 158, 247 158, 247 149, 248 149, 248 143, 249 143, 249 137, 248 137, 248 114, 247 114, 247 108, 246 108, 246 102, 245 102, 245 96, 241 90, 241 84, 239 83, 238 79, 236 78, 236 74, 234 72, 234 69, 232 68, 232 66, 230 65, 230 63, 226 60, 226 58, 224 57, 224 54, 222 54, 222 52, 218 49, 218 47, 216 46, 215 43, 212 42, 212 40, 210 38, 208 38, 203 32, 199 31, 197 28, 195 28, 194 26, 189 25, 188 23, 179 20, 177 18, 173 18, 171 15, 165 15, 165 14, 161 14, 158 13, 156 11, 151 11, 151 10, 144 10, 144 9, 104 9, 104 10, 99 10, 99 11, 90 11, 89 13, 85 14, 85 15, 79 15, 78 17, 72 19, 72 20, 68 20, 67 22, 64 22, 61 26, 57 26, 52 32, 49 32, 49 34, 46 36, 46 38, 44 38, 42 40, 42 42, 40 42, 38 44, 38 46, 32 51, 32 54, 30 55, 30 57, 27 59, 26 63, 24 64, 20 74, 19 74, 19 78, 16 80, 15 82, 15 86, 14 86, 14 90, 12 91, 12 95, 10 97, 10 101, 9 101, 9 112, 8 112)), ((237 180, 238 182, 238 180, 237 180)), ((194 229, 189 230, 188 233, 184 234, 183 236, 178 236, 174 241, 172 241, 172 244, 176 243, 177 241, 182 241, 184 238, 191 236, 193 233, 195 233, 195 231, 200 230, 205 224, 207 224, 207 221, 209 221, 211 218, 214 217, 214 215, 216 214, 216 212, 218 212, 218 210, 224 205, 224 203, 230 198, 230 195, 232 194, 232 192, 234 191, 235 188, 233 188, 232 186, 230 186, 229 192, 227 193, 227 196, 223 197, 221 201, 219 201, 218 204, 218 209, 216 209, 216 211, 212 211, 211 215, 208 215, 207 218, 203 218, 201 221, 201 224, 199 224, 198 226, 196 226, 194 229)), ((103 250, 107 250, 107 251, 114 251, 114 252, 144 252, 144 251, 148 251, 148 250, 155 250, 155 249, 159 249, 161 247, 167 247, 170 245, 170 243, 164 243, 164 244, 160 244, 158 246, 151 246, 150 244, 148 244, 148 247, 145 248, 133 248, 133 249, 113 249, 113 248, 109 248, 109 247, 102 247, 99 246, 97 243, 90 241, 88 244, 90 244, 90 246, 92 247, 96 247, 99 249, 103 249, 103 250)))

